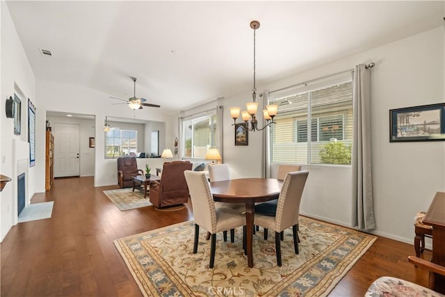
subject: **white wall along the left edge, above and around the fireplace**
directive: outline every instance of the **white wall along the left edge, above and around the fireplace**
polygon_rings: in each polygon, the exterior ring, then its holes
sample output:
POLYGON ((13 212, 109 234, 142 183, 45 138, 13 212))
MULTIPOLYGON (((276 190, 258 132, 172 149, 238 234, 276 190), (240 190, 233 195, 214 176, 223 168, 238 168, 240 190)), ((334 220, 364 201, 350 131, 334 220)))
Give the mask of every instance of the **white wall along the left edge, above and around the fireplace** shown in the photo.
MULTIPOLYGON (((0 2, 1 6, 1 90, 0 90, 0 127, 1 127, 1 161, 0 172, 3 175, 13 178, 6 184, 0 192, 0 241, 10 230, 10 227, 17 222, 17 177, 13 177, 15 172, 15 153, 13 152, 13 139, 17 141, 28 141, 28 98, 35 106, 38 106, 38 98, 35 96, 35 78, 31 65, 22 47, 17 31, 10 17, 8 6, 5 1, 0 2), (14 134, 14 122, 12 118, 6 118, 4 106, 6 99, 14 97, 14 93, 22 96, 22 133, 14 134), (15 211, 14 211, 15 210, 15 211)), ((36 111, 38 118, 39 110, 36 111)), ((36 139, 35 145, 44 145, 44 138, 36 139)), ((36 157, 36 161, 38 161, 36 157)), ((36 172, 35 167, 28 170, 26 177, 26 204, 35 192, 36 172)))

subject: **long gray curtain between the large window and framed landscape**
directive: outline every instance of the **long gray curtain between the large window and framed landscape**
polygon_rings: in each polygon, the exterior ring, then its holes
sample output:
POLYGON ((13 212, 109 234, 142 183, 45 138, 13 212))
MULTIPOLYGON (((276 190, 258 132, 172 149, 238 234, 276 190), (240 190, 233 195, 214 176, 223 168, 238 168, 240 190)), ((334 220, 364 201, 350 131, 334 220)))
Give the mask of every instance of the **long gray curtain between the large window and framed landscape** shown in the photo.
POLYGON ((353 227, 375 229, 371 170, 371 88, 365 65, 355 66, 353 89, 353 227))

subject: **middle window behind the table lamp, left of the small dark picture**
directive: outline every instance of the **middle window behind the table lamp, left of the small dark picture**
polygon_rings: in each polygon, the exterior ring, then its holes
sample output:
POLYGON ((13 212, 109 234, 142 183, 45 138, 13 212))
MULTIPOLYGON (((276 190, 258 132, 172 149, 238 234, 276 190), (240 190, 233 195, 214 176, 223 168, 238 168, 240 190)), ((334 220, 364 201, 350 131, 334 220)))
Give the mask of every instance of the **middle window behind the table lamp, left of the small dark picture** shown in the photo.
POLYGON ((184 156, 204 158, 209 147, 216 147, 216 113, 183 120, 182 129, 184 156))

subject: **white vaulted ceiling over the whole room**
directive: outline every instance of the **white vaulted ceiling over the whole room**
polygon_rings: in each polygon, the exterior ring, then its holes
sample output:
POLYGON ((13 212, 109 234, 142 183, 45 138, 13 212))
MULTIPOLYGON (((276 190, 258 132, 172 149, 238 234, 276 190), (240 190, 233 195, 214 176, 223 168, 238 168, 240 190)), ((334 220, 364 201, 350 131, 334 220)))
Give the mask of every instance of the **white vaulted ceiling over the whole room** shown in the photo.
MULTIPOLYGON (((179 111, 441 26, 444 1, 8 1, 35 77, 179 111), (41 49, 51 51, 43 55, 41 49)), ((116 103, 115 99, 110 99, 116 103), (114 101, 113 101, 114 100, 114 101)))

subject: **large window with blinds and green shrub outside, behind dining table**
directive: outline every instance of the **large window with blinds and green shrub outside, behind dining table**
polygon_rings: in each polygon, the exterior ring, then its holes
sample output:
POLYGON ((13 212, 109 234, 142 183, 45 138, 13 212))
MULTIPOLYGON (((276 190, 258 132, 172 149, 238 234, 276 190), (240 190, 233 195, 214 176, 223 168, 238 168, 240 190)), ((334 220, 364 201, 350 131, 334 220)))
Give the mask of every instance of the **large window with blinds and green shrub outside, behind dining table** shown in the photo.
POLYGON ((270 161, 350 164, 353 138, 353 83, 270 93, 278 104, 270 129, 270 161))

